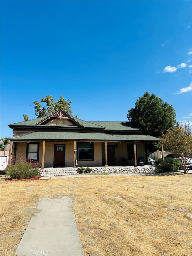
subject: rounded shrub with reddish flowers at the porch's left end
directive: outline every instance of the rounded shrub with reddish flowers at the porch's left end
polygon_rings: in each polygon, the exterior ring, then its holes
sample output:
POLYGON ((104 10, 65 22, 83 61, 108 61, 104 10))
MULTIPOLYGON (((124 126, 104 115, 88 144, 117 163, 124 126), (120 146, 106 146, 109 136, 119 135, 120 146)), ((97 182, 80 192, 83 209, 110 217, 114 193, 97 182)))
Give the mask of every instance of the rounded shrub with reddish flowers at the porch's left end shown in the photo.
POLYGON ((32 178, 39 175, 37 167, 33 168, 34 163, 28 163, 26 161, 20 161, 16 164, 7 166, 5 173, 12 178, 26 179, 32 178))

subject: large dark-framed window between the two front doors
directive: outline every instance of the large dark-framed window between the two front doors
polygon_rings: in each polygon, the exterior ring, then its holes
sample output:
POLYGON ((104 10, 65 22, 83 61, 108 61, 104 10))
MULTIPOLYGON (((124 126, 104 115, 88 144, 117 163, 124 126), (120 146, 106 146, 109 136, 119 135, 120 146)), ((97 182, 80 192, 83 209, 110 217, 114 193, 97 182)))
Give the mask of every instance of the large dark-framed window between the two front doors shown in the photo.
POLYGON ((93 142, 77 143, 77 160, 93 161, 93 142))

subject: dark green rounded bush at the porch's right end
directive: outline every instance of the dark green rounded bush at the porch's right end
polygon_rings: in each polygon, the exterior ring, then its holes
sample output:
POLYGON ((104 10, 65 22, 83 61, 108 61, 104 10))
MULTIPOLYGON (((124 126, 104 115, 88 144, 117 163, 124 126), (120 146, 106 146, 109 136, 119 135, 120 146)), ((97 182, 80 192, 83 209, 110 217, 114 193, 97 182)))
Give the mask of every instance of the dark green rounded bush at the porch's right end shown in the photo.
POLYGON ((179 170, 179 161, 175 158, 167 157, 164 160, 162 158, 155 159, 155 166, 157 173, 174 173, 179 170))

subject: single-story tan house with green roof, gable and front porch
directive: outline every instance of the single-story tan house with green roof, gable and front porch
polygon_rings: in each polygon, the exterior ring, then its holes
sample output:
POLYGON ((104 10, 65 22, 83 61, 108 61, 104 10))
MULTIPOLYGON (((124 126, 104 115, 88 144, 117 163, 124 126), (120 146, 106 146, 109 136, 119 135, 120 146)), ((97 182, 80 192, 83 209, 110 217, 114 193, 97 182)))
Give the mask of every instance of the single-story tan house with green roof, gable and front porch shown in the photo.
POLYGON ((147 135, 133 122, 87 122, 59 109, 49 116, 9 125, 9 159, 23 157, 44 167, 137 166, 148 163, 147 135))

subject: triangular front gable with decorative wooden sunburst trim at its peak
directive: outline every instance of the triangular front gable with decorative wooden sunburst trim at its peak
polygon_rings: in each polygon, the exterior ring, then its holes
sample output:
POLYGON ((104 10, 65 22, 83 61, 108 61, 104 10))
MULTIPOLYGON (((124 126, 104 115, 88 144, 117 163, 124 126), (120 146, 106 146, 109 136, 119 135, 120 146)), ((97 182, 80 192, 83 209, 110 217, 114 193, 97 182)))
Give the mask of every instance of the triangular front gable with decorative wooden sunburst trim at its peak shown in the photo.
POLYGON ((37 125, 43 125, 43 124, 56 124, 55 123, 55 119, 58 120, 58 124, 63 124, 66 125, 65 122, 61 122, 62 120, 64 121, 68 121, 69 124, 67 125, 76 125, 76 126, 80 126, 80 127, 84 127, 83 125, 81 125, 79 122, 77 122, 72 116, 70 116, 69 114, 67 114, 65 111, 63 111, 62 109, 59 109, 57 111, 55 111, 54 113, 52 113, 49 116, 46 116, 43 120, 41 120, 40 122, 36 123, 34 126, 37 125), (52 120, 51 120, 52 119, 52 120))

